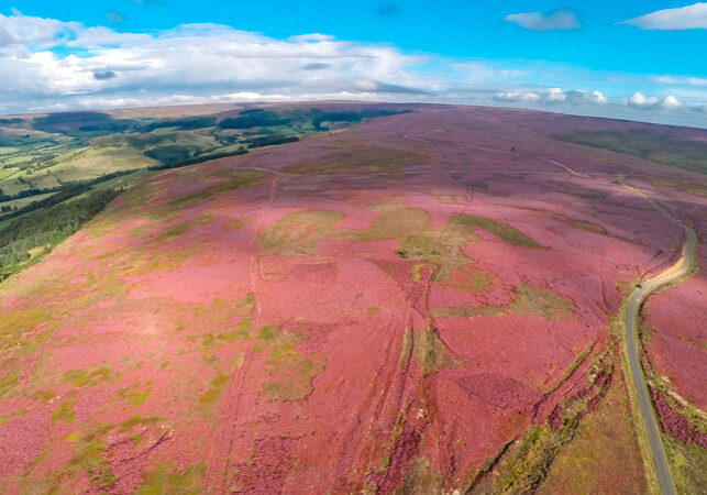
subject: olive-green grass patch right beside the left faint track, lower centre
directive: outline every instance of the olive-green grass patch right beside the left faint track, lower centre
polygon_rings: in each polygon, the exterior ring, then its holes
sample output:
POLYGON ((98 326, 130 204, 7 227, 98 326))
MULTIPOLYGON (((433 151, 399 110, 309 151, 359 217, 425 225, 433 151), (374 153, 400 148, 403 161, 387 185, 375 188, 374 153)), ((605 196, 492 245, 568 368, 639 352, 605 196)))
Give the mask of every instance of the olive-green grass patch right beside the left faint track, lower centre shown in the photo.
POLYGON ((312 392, 312 381, 324 369, 324 361, 303 355, 296 346, 302 334, 265 326, 257 333, 256 350, 267 351, 265 364, 272 380, 263 383, 269 400, 295 402, 312 392))

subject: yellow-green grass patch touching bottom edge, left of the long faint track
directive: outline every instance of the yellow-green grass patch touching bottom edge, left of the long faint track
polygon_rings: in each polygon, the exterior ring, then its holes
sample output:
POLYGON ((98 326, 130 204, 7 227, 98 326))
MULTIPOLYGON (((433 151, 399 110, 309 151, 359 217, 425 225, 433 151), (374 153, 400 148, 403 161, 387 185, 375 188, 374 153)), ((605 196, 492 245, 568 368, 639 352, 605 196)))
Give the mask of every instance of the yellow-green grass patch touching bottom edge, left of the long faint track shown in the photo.
POLYGON ((179 470, 174 461, 157 464, 143 474, 137 495, 191 495, 203 493, 207 463, 179 470))

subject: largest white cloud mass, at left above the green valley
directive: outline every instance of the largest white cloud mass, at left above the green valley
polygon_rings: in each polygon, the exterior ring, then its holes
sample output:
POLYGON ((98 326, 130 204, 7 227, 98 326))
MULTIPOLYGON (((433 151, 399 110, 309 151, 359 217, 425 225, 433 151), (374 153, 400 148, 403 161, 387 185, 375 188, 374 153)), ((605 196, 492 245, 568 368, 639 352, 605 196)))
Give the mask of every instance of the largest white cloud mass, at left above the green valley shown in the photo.
POLYGON ((134 95, 141 88, 167 95, 427 92, 415 87, 418 80, 408 70, 418 57, 322 34, 276 40, 223 25, 187 24, 147 35, 24 15, 0 15, 0 108, 21 105, 22 97, 134 95), (59 55, 67 51, 80 56, 59 55), (306 68, 311 64, 322 67, 316 76, 306 68))

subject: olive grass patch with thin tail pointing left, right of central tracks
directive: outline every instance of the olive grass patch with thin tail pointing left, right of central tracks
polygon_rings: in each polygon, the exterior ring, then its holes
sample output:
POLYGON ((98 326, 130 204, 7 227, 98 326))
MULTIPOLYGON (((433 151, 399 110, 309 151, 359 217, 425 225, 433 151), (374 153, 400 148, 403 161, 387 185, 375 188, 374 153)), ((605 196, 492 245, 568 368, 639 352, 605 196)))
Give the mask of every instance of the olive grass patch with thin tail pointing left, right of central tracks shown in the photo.
POLYGON ((480 306, 472 308, 457 306, 454 308, 437 308, 432 315, 443 318, 502 316, 502 315, 534 315, 545 320, 573 318, 575 305, 566 296, 561 296, 550 289, 535 287, 526 282, 513 288, 516 298, 508 306, 480 306))

